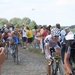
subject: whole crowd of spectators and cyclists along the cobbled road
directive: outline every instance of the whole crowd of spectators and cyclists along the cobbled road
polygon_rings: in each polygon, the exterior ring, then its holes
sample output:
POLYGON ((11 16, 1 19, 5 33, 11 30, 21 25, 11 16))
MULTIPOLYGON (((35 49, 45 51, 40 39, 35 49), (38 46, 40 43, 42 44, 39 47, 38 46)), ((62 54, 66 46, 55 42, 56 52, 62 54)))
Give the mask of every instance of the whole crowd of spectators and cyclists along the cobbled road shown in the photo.
MULTIPOLYGON (((34 29, 30 29, 28 26, 22 25, 20 29, 15 27, 5 28, 0 30, 0 41, 6 42, 9 40, 10 44, 23 43, 23 48, 35 49, 39 48, 47 60, 47 75, 50 75, 50 59, 52 58, 50 48, 54 48, 56 54, 61 57, 62 65, 66 75, 73 75, 72 66, 70 64, 70 57, 72 53, 71 47, 74 42, 74 33, 69 28, 61 29, 60 24, 56 24, 54 27, 49 26, 34 26, 34 29), (21 41, 22 40, 22 41, 21 41)), ((0 51, 4 52, 4 46, 0 46, 0 51)), ((1 60, 0 60, 1 61, 1 60)))

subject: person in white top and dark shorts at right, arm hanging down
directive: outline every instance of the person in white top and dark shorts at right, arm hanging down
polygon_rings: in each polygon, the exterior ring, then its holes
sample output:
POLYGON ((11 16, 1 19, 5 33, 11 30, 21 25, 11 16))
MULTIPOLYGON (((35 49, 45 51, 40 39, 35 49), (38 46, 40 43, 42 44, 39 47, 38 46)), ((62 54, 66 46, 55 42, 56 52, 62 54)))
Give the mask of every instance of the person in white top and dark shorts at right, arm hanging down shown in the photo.
POLYGON ((65 38, 64 38, 64 43, 65 43, 65 48, 64 48, 64 54, 61 56, 63 58, 63 67, 65 69, 66 75, 73 75, 71 64, 70 64, 70 56, 71 56, 71 45, 74 41, 74 33, 70 31, 70 29, 67 27, 64 29, 66 32, 65 38))

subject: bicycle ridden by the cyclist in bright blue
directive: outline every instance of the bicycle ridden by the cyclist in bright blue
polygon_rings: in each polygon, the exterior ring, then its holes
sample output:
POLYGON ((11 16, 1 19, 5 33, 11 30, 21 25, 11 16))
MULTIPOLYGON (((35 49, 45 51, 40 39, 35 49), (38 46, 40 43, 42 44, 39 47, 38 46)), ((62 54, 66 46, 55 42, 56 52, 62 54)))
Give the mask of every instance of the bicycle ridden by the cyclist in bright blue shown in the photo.
POLYGON ((12 56, 14 58, 14 62, 16 61, 17 65, 19 64, 19 57, 18 57, 18 44, 11 44, 10 45, 12 49, 12 56))

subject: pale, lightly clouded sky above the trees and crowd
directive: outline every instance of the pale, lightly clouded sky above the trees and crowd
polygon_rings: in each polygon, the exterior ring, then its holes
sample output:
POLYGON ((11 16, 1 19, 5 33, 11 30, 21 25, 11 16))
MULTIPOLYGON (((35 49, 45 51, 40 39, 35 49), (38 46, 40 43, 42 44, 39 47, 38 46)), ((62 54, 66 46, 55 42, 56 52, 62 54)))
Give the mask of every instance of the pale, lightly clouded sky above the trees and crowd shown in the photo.
POLYGON ((0 18, 28 17, 38 25, 75 25, 75 0, 0 0, 0 18))

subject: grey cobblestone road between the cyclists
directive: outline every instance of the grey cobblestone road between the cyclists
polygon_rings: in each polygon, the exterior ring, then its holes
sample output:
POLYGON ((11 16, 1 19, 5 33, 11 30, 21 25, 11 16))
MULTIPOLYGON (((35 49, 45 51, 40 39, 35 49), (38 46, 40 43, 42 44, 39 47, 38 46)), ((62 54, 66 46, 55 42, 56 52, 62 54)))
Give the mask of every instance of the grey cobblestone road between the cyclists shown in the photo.
POLYGON ((19 48, 21 58, 19 65, 9 54, 2 67, 2 75, 46 75, 46 61, 43 55, 19 48))

